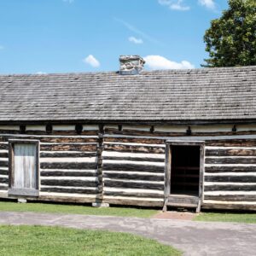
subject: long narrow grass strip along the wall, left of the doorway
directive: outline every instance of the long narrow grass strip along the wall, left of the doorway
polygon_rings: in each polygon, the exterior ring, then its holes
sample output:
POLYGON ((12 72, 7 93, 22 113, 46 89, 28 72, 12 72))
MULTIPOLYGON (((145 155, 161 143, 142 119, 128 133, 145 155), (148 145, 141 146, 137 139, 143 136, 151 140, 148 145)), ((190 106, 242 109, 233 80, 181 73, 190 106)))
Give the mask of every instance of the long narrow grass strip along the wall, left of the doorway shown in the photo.
POLYGON ((70 213, 87 215, 108 215, 122 217, 150 218, 156 214, 157 210, 125 208, 125 207, 87 207, 81 205, 61 205, 49 203, 31 202, 20 204, 13 201, 0 201, 0 211, 6 212, 51 212, 51 213, 70 213))

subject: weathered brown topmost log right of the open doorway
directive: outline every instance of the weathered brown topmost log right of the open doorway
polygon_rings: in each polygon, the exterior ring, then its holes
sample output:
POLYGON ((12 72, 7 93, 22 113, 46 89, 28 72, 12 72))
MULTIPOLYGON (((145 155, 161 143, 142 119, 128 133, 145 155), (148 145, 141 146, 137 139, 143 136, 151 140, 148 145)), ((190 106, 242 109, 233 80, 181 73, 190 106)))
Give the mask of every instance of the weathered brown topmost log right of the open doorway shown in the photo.
POLYGON ((209 140, 207 146, 256 147, 256 139, 209 140))

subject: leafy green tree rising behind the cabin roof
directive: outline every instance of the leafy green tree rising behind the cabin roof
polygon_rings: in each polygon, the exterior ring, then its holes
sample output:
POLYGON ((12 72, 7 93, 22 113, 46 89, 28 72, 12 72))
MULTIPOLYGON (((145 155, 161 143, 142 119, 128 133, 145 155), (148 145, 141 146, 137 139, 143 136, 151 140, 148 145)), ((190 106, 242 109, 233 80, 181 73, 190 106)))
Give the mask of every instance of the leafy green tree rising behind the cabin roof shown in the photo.
POLYGON ((210 57, 202 67, 256 65, 256 0, 229 0, 229 9, 211 21, 204 42, 210 57))

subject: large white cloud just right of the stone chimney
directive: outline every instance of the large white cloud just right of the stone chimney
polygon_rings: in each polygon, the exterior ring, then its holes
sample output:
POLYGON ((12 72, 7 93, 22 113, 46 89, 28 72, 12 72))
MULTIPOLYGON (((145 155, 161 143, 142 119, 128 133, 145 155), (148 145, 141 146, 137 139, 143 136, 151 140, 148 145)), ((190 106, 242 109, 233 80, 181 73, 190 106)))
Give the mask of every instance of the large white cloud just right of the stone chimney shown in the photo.
POLYGON ((195 68, 189 61, 181 61, 175 62, 166 59, 160 55, 147 55, 143 57, 146 61, 145 65, 153 70, 153 69, 187 69, 187 68, 195 68))

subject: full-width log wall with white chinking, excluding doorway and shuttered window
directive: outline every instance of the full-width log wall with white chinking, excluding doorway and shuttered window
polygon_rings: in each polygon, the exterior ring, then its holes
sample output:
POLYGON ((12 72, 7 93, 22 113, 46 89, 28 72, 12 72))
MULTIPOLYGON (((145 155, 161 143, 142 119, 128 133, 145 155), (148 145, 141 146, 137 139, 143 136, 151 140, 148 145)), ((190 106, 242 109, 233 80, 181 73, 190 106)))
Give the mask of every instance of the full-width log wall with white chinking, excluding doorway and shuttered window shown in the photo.
POLYGON ((256 210, 256 126, 29 125, 0 127, 0 196, 8 196, 9 139, 40 141, 39 200, 162 207, 166 140, 205 141, 204 208, 256 210), (19 127, 19 126, 18 126, 19 127))

